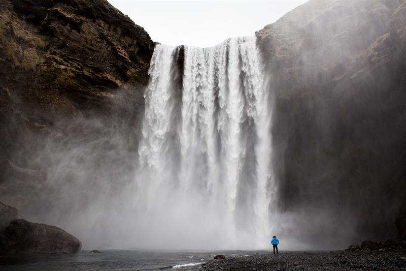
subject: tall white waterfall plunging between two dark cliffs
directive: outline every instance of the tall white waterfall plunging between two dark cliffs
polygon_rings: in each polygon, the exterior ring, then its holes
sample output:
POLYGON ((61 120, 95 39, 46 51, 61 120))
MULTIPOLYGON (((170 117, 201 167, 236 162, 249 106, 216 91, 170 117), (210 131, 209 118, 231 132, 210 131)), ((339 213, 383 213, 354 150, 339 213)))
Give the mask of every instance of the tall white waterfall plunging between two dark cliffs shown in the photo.
POLYGON ((267 245, 268 95, 255 37, 155 47, 137 173, 137 240, 151 248, 267 245))

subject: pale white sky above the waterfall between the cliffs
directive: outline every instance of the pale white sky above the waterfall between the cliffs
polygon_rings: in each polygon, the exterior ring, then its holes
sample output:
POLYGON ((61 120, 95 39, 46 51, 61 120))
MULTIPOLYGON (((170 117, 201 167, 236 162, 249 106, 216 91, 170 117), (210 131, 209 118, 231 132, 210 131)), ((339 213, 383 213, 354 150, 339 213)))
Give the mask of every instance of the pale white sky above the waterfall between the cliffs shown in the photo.
POLYGON ((136 1, 108 0, 156 42, 213 46, 229 37, 252 36, 306 0, 136 1))

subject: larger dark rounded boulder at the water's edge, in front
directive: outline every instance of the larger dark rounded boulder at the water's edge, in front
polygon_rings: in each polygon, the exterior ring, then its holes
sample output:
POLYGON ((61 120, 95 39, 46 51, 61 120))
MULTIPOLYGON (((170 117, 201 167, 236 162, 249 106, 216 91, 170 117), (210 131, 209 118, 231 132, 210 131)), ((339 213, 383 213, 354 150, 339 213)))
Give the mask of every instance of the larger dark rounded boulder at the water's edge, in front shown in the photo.
POLYGON ((50 225, 17 219, 0 235, 0 254, 5 253, 75 253, 82 244, 75 236, 50 225))

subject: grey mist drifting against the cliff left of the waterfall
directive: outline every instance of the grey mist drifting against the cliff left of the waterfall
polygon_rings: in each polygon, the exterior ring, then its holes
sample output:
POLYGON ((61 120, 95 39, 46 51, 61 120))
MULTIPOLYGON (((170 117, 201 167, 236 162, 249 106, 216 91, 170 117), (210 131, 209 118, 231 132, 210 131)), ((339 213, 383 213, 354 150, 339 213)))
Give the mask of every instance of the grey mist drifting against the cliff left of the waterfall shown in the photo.
MULTIPOLYGON (((120 96, 125 97, 125 90, 120 96)), ((134 219, 127 195, 134 194, 139 137, 133 126, 138 122, 133 106, 125 98, 116 98, 108 118, 82 111, 87 115, 58 118, 54 125, 60 131, 21 140, 37 148, 29 155, 26 149, 15 152, 10 161, 25 160, 24 166, 35 170, 6 179, 2 199, 18 206, 24 219, 72 232, 85 248, 121 247, 128 238, 128 220, 134 219)))

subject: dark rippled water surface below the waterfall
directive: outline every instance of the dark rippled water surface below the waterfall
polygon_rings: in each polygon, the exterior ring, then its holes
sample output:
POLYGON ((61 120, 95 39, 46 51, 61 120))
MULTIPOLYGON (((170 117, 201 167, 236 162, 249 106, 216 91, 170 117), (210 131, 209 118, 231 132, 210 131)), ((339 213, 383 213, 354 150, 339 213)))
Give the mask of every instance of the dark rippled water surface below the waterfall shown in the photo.
POLYGON ((100 250, 76 254, 19 254, 0 256, 1 270, 193 270, 214 255, 244 257, 263 254, 266 251, 220 251, 220 252, 162 252, 137 250, 100 250), (171 268, 169 268, 171 269, 171 268))

